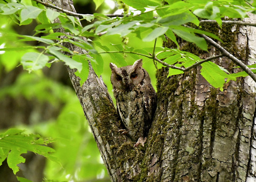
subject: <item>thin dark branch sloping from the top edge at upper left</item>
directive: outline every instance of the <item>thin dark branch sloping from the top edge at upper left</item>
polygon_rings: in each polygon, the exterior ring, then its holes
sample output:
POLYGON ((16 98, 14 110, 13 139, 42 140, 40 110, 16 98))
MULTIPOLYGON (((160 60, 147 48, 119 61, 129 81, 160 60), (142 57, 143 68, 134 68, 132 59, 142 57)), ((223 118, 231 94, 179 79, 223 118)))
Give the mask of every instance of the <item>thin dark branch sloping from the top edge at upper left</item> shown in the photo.
MULTIPOLYGON (((45 2, 42 2, 42 1, 39 1, 39 0, 33 0, 37 3, 40 3, 40 4, 43 4, 44 6, 46 7, 51 7, 55 10, 59 10, 63 13, 66 13, 67 15, 70 15, 70 16, 78 16, 79 18, 84 18, 85 16, 94 16, 93 14, 81 14, 81 13, 75 13, 75 12, 72 12, 72 11, 68 11, 68 10, 65 10, 61 7, 58 7, 58 6, 55 6, 53 4, 50 4, 50 3, 45 3, 45 2)), ((124 15, 123 14, 106 14, 105 16, 108 16, 110 18, 113 18, 113 17, 123 17, 124 15)))

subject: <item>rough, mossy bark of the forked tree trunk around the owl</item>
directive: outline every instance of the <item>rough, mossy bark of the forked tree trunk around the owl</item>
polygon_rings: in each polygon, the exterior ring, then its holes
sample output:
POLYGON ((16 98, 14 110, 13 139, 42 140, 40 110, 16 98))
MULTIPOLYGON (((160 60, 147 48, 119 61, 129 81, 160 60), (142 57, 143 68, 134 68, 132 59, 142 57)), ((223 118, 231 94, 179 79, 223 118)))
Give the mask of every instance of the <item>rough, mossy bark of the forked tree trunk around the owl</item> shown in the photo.
MULTIPOLYGON (((69 0, 53 4, 75 11, 69 0)), ((219 33, 225 42, 222 46, 244 62, 254 58, 255 28, 227 25, 219 29, 206 24, 204 29, 219 33)), ((201 58, 218 54, 213 47, 206 53, 186 42, 181 42, 181 48, 201 58)), ((215 62, 230 71, 235 66, 226 58, 215 62)), ((204 80, 200 67, 171 77, 167 68, 161 68, 156 75, 157 110, 147 143, 134 148, 129 137, 118 133, 120 121, 101 78, 90 68, 81 87, 75 71, 68 71, 112 181, 255 179, 255 83, 250 77, 231 81, 220 91, 204 80)))

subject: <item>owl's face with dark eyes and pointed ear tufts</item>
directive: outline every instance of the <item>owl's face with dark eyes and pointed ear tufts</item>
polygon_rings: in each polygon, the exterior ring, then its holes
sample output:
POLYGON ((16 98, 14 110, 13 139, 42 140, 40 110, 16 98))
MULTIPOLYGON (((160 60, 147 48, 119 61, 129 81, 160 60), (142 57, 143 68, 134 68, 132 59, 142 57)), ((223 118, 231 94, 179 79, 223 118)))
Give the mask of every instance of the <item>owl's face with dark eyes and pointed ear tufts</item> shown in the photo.
POLYGON ((124 67, 117 67, 114 63, 110 63, 110 68, 113 88, 129 91, 134 86, 143 84, 146 71, 142 68, 142 59, 135 61, 131 66, 124 67))

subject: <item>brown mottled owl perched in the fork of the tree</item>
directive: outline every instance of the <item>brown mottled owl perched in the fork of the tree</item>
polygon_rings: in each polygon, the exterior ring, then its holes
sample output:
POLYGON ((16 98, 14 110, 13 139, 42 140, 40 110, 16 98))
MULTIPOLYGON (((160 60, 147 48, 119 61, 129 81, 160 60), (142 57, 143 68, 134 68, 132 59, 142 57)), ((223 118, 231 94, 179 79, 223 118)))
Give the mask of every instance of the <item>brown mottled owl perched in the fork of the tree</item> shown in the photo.
POLYGON ((110 63, 111 83, 117 112, 135 146, 144 144, 156 108, 156 91, 142 59, 133 65, 117 67, 110 63))

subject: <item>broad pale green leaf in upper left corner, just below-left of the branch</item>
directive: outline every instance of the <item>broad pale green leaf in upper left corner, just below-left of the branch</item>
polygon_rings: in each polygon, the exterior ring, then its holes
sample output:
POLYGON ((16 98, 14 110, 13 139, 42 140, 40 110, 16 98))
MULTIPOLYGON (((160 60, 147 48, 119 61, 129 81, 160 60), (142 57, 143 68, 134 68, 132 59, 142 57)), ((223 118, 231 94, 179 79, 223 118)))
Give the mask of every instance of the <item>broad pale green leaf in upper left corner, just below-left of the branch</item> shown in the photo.
POLYGON ((28 19, 36 19, 43 10, 35 6, 26 6, 20 12, 21 24, 28 19))

